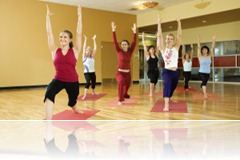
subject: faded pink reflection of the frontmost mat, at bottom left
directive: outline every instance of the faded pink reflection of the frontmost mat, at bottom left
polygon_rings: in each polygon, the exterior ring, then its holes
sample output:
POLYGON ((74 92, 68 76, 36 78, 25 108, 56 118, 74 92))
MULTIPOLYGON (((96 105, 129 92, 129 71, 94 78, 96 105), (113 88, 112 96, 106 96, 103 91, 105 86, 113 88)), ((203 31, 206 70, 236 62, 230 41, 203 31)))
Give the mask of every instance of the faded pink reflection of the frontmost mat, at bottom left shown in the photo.
POLYGON ((82 129, 85 131, 99 131, 98 128, 86 121, 53 121, 53 125, 65 131, 72 131, 75 129, 82 129))

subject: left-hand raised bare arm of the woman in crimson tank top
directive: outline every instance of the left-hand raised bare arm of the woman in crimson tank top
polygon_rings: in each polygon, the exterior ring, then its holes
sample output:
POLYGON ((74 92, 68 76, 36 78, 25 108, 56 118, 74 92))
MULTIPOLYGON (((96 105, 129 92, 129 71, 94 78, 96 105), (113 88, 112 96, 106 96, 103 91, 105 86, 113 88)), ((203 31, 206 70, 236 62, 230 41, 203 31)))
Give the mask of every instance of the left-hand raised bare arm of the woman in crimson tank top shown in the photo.
POLYGON ((47 29, 47 36, 48 36, 48 47, 51 51, 52 58, 53 58, 57 47, 55 45, 54 37, 53 37, 53 33, 52 33, 52 25, 51 25, 51 20, 50 20, 51 15, 53 15, 53 14, 50 12, 49 7, 47 5, 46 29, 47 29))

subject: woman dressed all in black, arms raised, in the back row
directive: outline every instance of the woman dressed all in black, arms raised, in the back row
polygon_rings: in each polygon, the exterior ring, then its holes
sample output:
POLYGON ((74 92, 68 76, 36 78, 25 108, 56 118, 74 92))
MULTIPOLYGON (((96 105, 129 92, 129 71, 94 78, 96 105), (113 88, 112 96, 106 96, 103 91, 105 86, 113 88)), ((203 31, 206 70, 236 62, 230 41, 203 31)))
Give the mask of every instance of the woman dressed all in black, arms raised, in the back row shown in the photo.
MULTIPOLYGON (((158 69, 158 52, 159 47, 157 46, 155 49, 154 45, 150 45, 147 49, 147 46, 145 44, 144 40, 144 32, 142 33, 142 44, 144 49, 144 56, 146 58, 146 61, 148 63, 148 78, 150 79, 150 91, 149 91, 149 97, 152 97, 153 91, 155 89, 155 86, 158 82, 159 78, 159 69, 158 69)), ((158 36, 158 34, 157 34, 158 36)), ((158 45, 158 44, 157 44, 158 45)))

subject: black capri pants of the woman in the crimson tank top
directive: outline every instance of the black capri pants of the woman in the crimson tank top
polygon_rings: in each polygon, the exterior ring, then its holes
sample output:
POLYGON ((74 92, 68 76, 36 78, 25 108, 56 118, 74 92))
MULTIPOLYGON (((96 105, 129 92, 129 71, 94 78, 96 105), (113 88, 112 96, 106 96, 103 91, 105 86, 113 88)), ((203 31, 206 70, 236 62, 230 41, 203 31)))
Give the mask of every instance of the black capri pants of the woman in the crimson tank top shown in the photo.
POLYGON ((65 89, 68 94, 68 106, 73 107, 77 103, 79 95, 79 83, 78 82, 62 82, 57 79, 53 79, 52 82, 47 86, 45 93, 44 102, 48 98, 50 101, 55 103, 55 96, 62 90, 65 89))

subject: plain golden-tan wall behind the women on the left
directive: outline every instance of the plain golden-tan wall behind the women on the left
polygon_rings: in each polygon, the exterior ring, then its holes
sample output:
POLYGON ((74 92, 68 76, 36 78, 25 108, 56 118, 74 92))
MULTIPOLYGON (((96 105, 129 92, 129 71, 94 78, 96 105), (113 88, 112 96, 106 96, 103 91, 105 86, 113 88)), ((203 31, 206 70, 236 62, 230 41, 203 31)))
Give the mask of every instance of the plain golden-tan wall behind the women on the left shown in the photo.
MULTIPOLYGON (((62 29, 75 35, 77 7, 48 3, 55 43, 62 29)), ((47 45, 46 3, 38 0, 0 0, 0 87, 46 85, 54 76, 54 66, 47 45)), ((132 39, 135 15, 83 8, 83 34, 97 34, 96 72, 101 82, 101 41, 112 42, 111 21, 117 24, 119 41, 132 39)), ((75 41, 75 37, 74 37, 75 41)), ((137 50, 137 48, 136 48, 137 50)), ((77 63, 80 83, 85 83, 81 57, 77 63)), ((134 61, 133 80, 138 80, 138 61, 134 61)))

